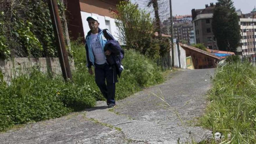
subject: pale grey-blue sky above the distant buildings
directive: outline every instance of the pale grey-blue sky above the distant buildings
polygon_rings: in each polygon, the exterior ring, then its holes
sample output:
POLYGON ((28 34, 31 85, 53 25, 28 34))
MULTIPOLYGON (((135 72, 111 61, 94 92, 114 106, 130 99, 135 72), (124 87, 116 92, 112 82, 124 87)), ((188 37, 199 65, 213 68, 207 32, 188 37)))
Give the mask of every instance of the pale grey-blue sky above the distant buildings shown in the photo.
MULTIPOLYGON (((146 8, 145 3, 148 0, 131 0, 132 3, 138 3, 140 8, 146 8)), ((165 0, 169 2, 169 0, 165 0)), ((173 15, 191 15, 191 10, 203 9, 205 4, 216 3, 217 0, 172 0, 173 15)), ((256 0, 233 0, 236 9, 241 9, 242 13, 250 13, 254 6, 256 6, 256 0)), ((169 4, 169 3, 168 3, 169 4)))

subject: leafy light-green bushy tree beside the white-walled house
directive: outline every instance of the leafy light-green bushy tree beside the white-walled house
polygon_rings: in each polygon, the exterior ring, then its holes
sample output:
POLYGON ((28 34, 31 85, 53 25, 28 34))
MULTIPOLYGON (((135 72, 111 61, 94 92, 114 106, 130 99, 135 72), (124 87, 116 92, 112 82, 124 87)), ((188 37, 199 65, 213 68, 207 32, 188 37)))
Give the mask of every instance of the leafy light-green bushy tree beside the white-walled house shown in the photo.
POLYGON ((138 5, 121 1, 114 14, 120 30, 120 38, 127 48, 135 49, 152 59, 159 57, 160 46, 154 39, 154 27, 150 14, 138 8, 138 5))

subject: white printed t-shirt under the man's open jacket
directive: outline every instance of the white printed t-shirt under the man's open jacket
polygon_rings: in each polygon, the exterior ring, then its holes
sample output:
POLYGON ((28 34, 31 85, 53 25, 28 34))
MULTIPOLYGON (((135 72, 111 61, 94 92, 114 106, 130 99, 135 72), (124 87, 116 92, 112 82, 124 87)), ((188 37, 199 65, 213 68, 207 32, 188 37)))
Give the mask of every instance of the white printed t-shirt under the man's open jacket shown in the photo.
POLYGON ((100 45, 98 33, 96 34, 91 33, 90 39, 91 39, 90 43, 93 50, 95 63, 97 63, 98 65, 102 65, 106 63, 106 57, 100 45))

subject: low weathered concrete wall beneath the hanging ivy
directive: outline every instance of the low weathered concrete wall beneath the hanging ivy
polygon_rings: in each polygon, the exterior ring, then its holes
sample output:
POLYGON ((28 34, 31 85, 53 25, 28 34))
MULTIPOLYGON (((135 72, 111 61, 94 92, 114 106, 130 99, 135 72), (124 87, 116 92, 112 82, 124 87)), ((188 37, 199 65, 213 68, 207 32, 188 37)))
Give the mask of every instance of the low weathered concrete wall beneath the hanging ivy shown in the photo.
MULTIPOLYGON (((51 72, 52 74, 62 74, 59 58, 13 58, 0 60, 0 70, 5 81, 10 81, 12 77, 22 73, 27 73, 31 67, 38 67, 41 72, 51 72)), ((74 70, 74 61, 70 61, 70 68, 74 70)))

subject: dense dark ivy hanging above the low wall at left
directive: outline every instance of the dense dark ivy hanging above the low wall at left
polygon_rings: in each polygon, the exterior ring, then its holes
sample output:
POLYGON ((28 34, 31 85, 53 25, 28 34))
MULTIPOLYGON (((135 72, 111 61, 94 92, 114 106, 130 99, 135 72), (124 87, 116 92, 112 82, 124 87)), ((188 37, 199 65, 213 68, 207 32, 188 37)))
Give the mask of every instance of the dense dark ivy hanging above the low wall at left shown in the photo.
MULTIPOLYGON (((65 6, 57 0, 61 20, 65 6)), ((0 0, 0 58, 57 57, 47 1, 0 0)))

